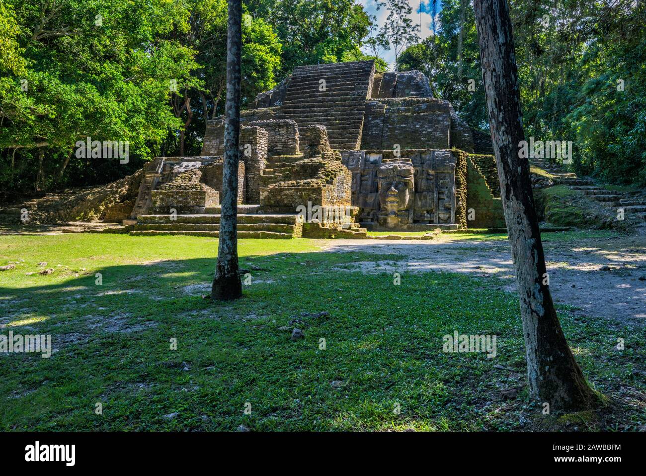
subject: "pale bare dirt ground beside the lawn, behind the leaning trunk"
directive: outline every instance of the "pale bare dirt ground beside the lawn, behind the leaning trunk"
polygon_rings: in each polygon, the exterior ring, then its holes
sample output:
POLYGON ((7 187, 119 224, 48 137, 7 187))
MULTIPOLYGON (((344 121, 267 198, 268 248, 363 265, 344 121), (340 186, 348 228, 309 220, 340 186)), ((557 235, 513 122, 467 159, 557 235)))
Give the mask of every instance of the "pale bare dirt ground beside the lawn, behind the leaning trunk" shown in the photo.
MULTIPOLYGON (((546 234, 543 240, 550 290, 557 303, 576 306, 577 314, 646 323, 646 237, 618 235, 572 243, 546 234)), ((506 239, 458 240, 443 235, 433 241, 334 240, 322 241, 321 246, 329 252, 406 256, 404 261, 356 263, 365 272, 463 272, 499 277, 503 288, 516 290, 506 239)))

